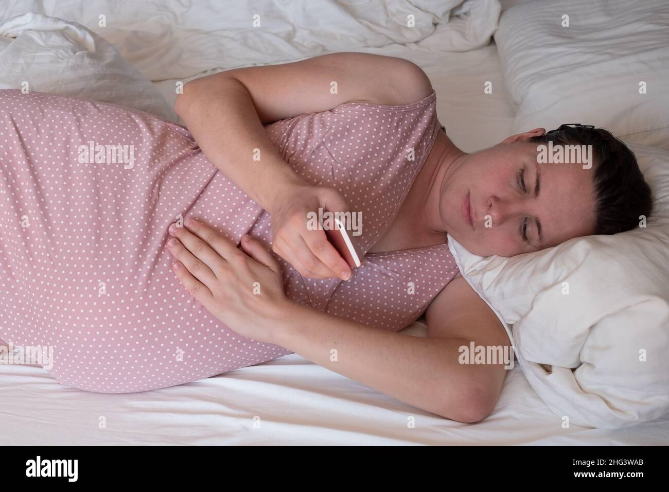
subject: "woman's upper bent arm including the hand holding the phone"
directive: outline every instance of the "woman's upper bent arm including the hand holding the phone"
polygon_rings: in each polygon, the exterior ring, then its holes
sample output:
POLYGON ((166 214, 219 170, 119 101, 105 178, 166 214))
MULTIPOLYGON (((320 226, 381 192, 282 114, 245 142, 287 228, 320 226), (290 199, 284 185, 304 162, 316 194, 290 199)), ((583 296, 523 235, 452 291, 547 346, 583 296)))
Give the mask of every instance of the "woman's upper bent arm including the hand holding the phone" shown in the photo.
POLYGON ((320 208, 349 212, 346 199, 337 189, 302 181, 282 160, 262 124, 351 100, 403 104, 430 92, 427 76, 407 60, 337 53, 192 80, 177 96, 175 110, 207 158, 272 214, 276 254, 302 276, 347 280, 347 262, 322 230, 308 229, 306 220, 320 208))

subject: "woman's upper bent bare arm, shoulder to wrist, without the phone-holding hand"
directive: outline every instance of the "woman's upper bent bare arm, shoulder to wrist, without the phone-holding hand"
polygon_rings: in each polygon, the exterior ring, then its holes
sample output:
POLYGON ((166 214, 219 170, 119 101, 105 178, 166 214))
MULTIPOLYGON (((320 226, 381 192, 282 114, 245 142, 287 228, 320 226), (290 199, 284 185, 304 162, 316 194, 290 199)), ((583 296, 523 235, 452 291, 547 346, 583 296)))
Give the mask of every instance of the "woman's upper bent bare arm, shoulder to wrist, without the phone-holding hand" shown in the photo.
POLYGON ((335 53, 191 80, 175 110, 207 159, 272 213, 280 193, 305 183, 281 159, 262 125, 351 100, 413 102, 431 90, 423 71, 407 60, 335 53), (332 93, 332 82, 337 92, 332 93), (254 161, 254 149, 260 149, 260 161, 254 161))

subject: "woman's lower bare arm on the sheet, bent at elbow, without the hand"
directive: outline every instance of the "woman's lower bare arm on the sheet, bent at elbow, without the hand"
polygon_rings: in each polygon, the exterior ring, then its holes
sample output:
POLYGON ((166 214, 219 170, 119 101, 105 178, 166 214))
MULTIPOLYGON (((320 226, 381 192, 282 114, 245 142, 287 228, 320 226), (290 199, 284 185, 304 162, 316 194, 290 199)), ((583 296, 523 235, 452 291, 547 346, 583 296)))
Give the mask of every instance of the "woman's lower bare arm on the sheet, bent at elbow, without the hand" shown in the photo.
POLYGON ((274 343, 423 410, 478 422, 499 398, 504 363, 462 364, 460 347, 508 345, 504 328, 462 277, 429 311, 428 336, 413 337, 294 305, 274 343))

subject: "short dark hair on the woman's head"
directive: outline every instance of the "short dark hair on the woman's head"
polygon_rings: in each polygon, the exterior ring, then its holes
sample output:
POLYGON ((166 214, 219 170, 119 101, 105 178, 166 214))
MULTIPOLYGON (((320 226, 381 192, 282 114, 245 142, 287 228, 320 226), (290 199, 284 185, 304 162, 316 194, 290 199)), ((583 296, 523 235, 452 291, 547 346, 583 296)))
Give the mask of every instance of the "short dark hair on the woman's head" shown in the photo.
POLYGON ((530 142, 560 145, 592 145, 595 188, 595 234, 617 234, 648 218, 653 199, 650 186, 634 153, 610 132, 594 127, 561 125, 530 142))

